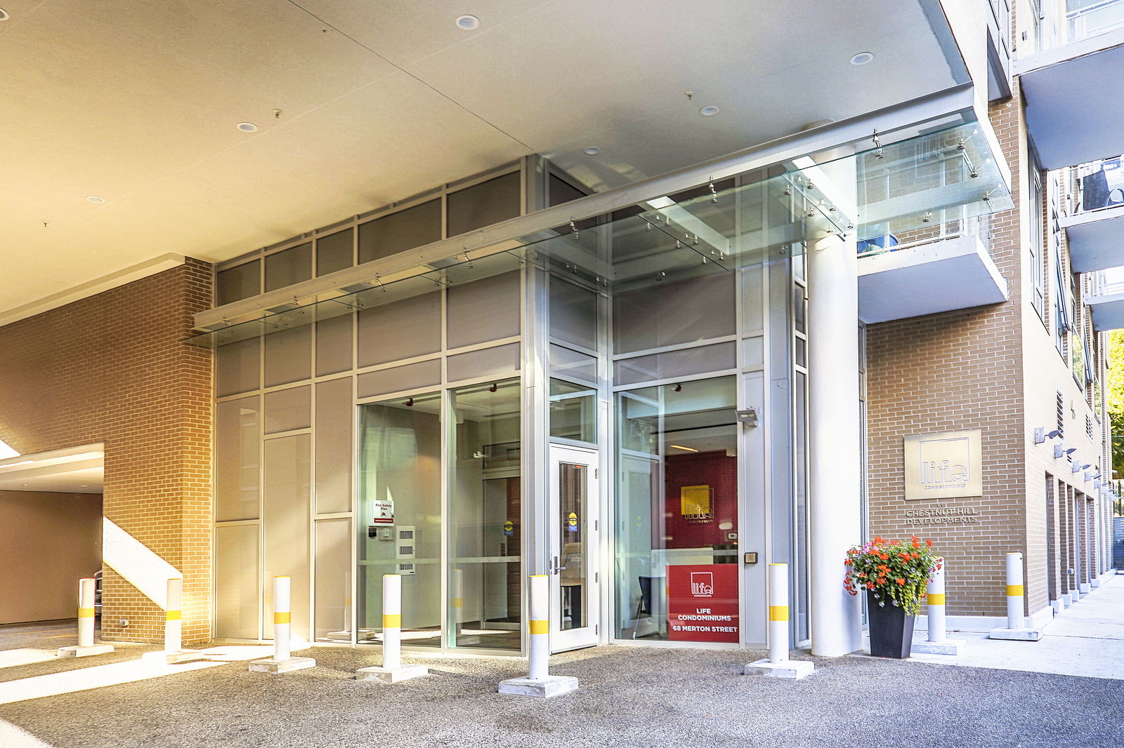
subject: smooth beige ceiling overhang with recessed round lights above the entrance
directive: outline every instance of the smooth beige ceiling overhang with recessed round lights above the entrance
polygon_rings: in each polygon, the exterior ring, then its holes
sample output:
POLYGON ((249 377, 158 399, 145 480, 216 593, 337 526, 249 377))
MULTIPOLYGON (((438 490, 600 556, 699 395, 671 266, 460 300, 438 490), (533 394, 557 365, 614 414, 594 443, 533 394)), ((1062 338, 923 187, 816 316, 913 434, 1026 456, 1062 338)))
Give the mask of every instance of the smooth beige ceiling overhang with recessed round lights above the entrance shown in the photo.
POLYGON ((935 0, 0 7, 0 313, 529 153, 608 189, 963 80, 935 0))

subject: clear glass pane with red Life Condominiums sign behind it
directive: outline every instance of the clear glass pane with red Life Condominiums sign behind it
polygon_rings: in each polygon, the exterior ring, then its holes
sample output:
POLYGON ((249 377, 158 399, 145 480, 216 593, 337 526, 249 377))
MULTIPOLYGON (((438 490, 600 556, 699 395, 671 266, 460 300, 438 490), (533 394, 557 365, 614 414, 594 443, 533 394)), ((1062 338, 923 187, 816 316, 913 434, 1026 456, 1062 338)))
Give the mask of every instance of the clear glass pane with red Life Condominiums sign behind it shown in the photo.
POLYGON ((623 392, 617 407, 617 636, 738 641, 735 377, 623 392))

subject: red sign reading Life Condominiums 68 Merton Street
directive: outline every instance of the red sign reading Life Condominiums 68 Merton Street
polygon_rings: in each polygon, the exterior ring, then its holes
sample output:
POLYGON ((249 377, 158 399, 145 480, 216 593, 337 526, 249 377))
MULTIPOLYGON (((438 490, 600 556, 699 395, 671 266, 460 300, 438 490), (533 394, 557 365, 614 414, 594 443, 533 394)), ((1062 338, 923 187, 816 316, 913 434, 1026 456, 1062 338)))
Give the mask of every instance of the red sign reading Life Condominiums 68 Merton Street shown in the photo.
POLYGON ((737 564, 668 567, 672 641, 738 641, 737 564))

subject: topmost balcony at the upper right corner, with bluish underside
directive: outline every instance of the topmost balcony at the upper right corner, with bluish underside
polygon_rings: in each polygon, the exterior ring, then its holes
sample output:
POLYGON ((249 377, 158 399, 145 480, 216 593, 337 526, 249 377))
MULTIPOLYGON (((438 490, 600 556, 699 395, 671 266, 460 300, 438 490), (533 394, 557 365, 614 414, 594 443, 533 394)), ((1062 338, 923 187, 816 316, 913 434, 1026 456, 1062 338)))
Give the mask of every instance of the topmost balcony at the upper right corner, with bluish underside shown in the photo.
POLYGON ((1034 4, 1037 22, 1021 45, 1034 52, 1016 62, 1015 73, 1042 166, 1062 168, 1124 152, 1118 126, 1124 98, 1111 89, 1124 71, 1124 0, 1034 4))

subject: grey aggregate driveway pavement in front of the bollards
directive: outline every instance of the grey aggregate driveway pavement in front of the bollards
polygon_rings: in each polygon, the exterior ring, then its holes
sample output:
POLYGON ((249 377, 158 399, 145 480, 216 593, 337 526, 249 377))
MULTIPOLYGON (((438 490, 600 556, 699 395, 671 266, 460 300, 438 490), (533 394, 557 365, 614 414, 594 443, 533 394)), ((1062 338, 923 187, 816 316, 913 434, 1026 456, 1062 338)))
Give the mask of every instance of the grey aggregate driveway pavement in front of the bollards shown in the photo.
POLYGON ((546 701, 496 693, 525 673, 517 658, 408 655, 433 675, 384 685, 354 679, 378 653, 305 650, 315 668, 274 676, 246 671, 268 651, 252 647, 220 648, 241 662, 33 699, 44 692, 37 677, 89 669, 96 684, 155 649, 22 662, 36 641, 0 628, 0 719, 43 741, 21 747, 1099 748, 1124 736, 1124 687, 1113 679, 843 657, 779 681, 740 675, 761 653, 623 646, 552 658, 581 690, 546 701), (22 660, 4 659, 13 650, 22 660))

